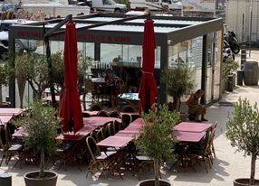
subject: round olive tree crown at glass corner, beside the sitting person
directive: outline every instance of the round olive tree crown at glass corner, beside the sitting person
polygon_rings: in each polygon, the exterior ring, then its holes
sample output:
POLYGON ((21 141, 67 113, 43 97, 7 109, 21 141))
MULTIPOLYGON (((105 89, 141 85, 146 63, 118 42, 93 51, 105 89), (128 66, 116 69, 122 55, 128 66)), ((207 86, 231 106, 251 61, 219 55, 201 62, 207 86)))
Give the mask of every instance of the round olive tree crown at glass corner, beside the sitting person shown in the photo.
POLYGON ((181 98, 192 92, 195 81, 195 70, 185 63, 178 63, 176 67, 170 67, 162 73, 161 81, 168 85, 168 95, 181 98))

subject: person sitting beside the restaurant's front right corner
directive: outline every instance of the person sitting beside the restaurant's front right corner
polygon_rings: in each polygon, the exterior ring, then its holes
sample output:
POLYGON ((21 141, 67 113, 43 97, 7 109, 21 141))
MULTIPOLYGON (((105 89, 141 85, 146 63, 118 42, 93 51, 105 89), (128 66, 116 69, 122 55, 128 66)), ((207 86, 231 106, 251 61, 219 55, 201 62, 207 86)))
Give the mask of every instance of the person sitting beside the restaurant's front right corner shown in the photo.
POLYGON ((204 95, 202 89, 198 89, 196 93, 192 94, 187 100, 189 119, 197 122, 207 121, 204 117, 206 114, 206 107, 198 103, 199 98, 204 95))

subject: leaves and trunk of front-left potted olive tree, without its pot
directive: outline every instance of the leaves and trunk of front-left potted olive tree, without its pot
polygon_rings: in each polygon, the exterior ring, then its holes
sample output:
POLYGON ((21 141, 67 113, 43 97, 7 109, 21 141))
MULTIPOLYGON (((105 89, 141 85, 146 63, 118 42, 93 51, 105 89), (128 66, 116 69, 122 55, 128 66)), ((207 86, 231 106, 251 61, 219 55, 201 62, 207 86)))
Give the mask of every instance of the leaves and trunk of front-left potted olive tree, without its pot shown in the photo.
POLYGON ((60 128, 61 120, 57 111, 42 102, 34 102, 24 116, 14 121, 15 126, 24 126, 27 135, 24 136, 25 145, 35 152, 41 153, 40 170, 43 175, 44 154, 52 154, 56 150, 57 129, 60 128), (43 154, 43 155, 42 155, 43 154))

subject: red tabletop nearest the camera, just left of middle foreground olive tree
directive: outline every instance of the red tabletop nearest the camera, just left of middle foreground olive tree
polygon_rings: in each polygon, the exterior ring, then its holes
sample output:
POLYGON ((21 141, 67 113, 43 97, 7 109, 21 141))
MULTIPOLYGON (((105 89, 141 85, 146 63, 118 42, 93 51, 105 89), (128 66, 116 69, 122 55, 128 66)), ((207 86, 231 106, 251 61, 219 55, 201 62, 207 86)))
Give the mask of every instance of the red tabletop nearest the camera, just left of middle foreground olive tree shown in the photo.
POLYGON ((121 148, 127 145, 131 140, 132 137, 112 135, 105 138, 104 140, 101 140, 101 142, 99 142, 97 145, 121 148))

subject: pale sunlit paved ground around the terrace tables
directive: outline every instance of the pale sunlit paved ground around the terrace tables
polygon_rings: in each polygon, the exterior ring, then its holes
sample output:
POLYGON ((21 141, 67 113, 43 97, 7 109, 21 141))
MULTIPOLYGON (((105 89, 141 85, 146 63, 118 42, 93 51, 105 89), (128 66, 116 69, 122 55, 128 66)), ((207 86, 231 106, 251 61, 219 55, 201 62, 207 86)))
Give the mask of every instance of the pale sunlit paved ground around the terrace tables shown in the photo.
MULTIPOLYGON (((238 58, 238 56, 237 56, 238 58)), ((251 57, 247 60, 259 61, 259 51, 252 51, 251 57)), ((169 172, 168 168, 165 168, 162 177, 170 181, 174 186, 228 186, 233 185, 232 181, 235 178, 248 177, 250 173, 250 157, 244 157, 243 153, 235 153, 235 149, 231 147, 229 141, 225 138, 225 122, 227 116, 233 110, 231 103, 239 98, 248 98, 251 102, 259 100, 259 86, 240 86, 235 87, 233 92, 225 92, 222 100, 215 105, 207 108, 206 117, 210 123, 218 122, 216 130, 216 160, 214 161, 212 169, 206 173, 205 169, 197 165, 197 172, 192 169, 187 169, 185 172, 169 172), (225 104, 227 103, 228 104, 225 104), (221 104, 222 103, 222 104, 221 104)), ((0 173, 8 172, 12 174, 13 186, 24 186, 23 175, 25 172, 36 170, 37 168, 30 165, 24 165, 21 170, 19 166, 13 167, 14 162, 10 163, 9 166, 0 167, 0 173)), ((171 163, 168 163, 170 166, 171 163)), ((257 167, 259 163, 257 162, 257 167)), ((123 185, 123 186, 134 186, 138 184, 138 178, 132 176, 127 172, 123 180, 118 176, 109 176, 109 178, 95 178, 89 176, 85 178, 86 166, 83 166, 82 172, 77 167, 68 167, 68 171, 56 170, 58 172, 58 186, 106 186, 106 185, 123 185)), ((256 169, 258 170, 258 168, 256 169)), ((258 172, 255 173, 258 177, 258 172)), ((152 171, 145 171, 142 179, 152 178, 152 171)), ((2 186, 2 185, 1 185, 2 186)), ((4 185, 3 185, 4 186, 4 185)))

